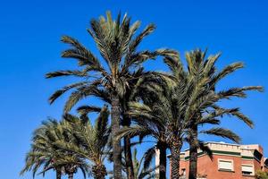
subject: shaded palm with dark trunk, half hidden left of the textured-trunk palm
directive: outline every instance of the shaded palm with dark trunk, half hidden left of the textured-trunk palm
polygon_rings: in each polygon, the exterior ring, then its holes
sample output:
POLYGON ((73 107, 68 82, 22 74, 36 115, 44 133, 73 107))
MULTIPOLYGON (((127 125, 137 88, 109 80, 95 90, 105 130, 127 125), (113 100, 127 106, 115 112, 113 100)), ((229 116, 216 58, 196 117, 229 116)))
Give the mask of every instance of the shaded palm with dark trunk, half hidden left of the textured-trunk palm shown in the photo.
MULTIPOLYGON (((158 79, 157 76, 155 78, 148 78, 147 80, 141 79, 139 83, 145 83, 146 85, 139 84, 138 90, 138 97, 139 99, 142 99, 144 104, 152 107, 154 106, 155 103, 158 102, 157 96, 155 96, 155 89, 154 90, 148 90, 148 85, 147 84, 155 84, 157 83, 158 79)), ((136 132, 133 132, 137 129, 133 129, 133 127, 128 128, 125 127, 121 129, 121 131, 118 133, 118 138, 121 138, 122 136, 125 135, 130 135, 131 137, 138 135, 141 138, 141 141, 144 137, 147 135, 152 135, 156 139, 156 148, 159 149, 160 151, 160 166, 159 166, 159 177, 160 178, 165 178, 166 177, 166 150, 169 148, 169 145, 164 138, 163 133, 165 132, 164 125, 165 124, 154 124, 153 122, 148 122, 147 118, 145 118, 143 115, 140 115, 140 112, 142 112, 141 108, 138 108, 135 110, 135 105, 139 107, 139 103, 129 103, 129 111, 128 114, 133 118, 133 121, 136 122, 140 127, 142 127, 142 130, 138 130, 136 132), (140 111, 139 111, 140 110, 140 111), (138 121, 136 121, 138 120, 138 121)), ((164 123, 164 122, 163 122, 164 123)), ((138 127, 138 125, 136 127, 138 127)), ((155 152, 155 146, 152 148, 148 149, 147 154, 150 156, 150 154, 153 154, 155 152)), ((154 154, 153 154, 154 155, 154 154)))

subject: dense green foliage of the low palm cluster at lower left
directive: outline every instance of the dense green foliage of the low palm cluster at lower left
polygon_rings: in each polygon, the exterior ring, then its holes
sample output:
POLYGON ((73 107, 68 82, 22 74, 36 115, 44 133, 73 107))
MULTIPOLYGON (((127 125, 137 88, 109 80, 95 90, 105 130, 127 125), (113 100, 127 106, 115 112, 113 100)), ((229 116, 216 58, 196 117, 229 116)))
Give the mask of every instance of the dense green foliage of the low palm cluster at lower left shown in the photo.
POLYGON ((43 175, 51 169, 71 175, 80 168, 85 178, 89 172, 105 176, 104 160, 109 153, 107 143, 111 131, 109 115, 105 106, 99 111, 95 125, 69 114, 63 115, 60 123, 52 119, 43 122, 34 132, 21 175, 31 170, 34 176, 42 167, 43 175))

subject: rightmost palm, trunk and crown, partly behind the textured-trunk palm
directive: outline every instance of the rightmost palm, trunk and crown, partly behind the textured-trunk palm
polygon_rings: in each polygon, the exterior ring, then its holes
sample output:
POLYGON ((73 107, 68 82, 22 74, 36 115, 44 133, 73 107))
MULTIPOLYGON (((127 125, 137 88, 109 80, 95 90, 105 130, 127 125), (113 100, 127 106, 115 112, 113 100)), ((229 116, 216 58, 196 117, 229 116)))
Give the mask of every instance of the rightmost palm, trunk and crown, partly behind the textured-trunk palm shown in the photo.
MULTIPOLYGON (((228 73, 240 68, 242 64, 230 64, 225 69, 223 69, 222 72, 215 72, 214 64, 218 59, 219 55, 210 56, 208 60, 202 62, 202 59, 204 59, 204 57, 205 53, 202 54, 200 53, 200 51, 199 53, 187 54, 188 72, 186 73, 186 79, 189 82, 194 81, 194 83, 196 83, 196 85, 193 85, 193 90, 188 93, 189 95, 191 95, 191 98, 188 100, 188 107, 185 110, 184 116, 185 120, 188 121, 189 127, 188 141, 190 142, 190 149, 192 152, 190 155, 192 162, 190 164, 191 169, 194 168, 193 166, 197 165, 197 163, 195 162, 197 160, 194 159, 197 159, 197 126, 199 124, 207 123, 207 118, 210 118, 209 123, 213 122, 215 124, 219 124, 219 121, 215 121, 214 119, 216 119, 217 117, 222 117, 222 115, 232 115, 238 117, 246 124, 252 124, 252 122, 247 118, 246 115, 243 115, 241 112, 239 112, 239 108, 226 109, 219 107, 217 103, 224 98, 243 98, 246 96, 246 90, 263 90, 263 88, 259 86, 250 86, 244 88, 232 88, 230 90, 222 90, 219 92, 215 92, 215 83, 217 81, 220 81, 228 73)), ((172 58, 165 59, 165 63, 169 65, 172 71, 172 79, 177 81, 177 83, 180 83, 182 76, 180 75, 180 72, 183 67, 180 63, 176 63, 177 61, 178 60, 172 58), (180 69, 180 72, 178 72, 178 69, 180 69)), ((218 130, 212 129, 206 131, 205 133, 215 134, 214 132, 218 132, 218 130)), ((196 172, 197 171, 191 171, 189 175, 195 175, 196 172)), ((193 177, 193 175, 190 177, 193 177)))

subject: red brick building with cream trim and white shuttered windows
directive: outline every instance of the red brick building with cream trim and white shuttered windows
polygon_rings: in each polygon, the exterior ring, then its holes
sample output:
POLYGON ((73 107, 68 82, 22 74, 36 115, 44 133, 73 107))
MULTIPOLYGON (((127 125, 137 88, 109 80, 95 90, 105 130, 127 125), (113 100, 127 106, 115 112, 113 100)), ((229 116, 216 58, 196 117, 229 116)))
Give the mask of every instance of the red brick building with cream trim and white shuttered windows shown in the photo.
MULTIPOLYGON (((207 142, 213 159, 198 151, 197 174, 201 179, 253 179, 258 170, 268 171, 268 159, 260 145, 207 142)), ((188 178, 189 151, 180 156, 181 178, 188 178)), ((172 161, 171 161, 172 162, 172 161)))

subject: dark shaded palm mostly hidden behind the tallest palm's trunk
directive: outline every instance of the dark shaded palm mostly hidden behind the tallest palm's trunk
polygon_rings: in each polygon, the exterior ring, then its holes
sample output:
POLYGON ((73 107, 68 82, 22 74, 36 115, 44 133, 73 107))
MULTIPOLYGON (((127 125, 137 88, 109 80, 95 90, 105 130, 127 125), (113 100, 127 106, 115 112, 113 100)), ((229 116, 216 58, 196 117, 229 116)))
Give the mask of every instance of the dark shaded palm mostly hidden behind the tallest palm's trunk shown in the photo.
MULTIPOLYGON (((136 72, 132 72, 130 74, 132 76, 131 79, 128 79, 128 88, 125 93, 120 96, 120 104, 121 104, 121 125, 123 127, 130 126, 131 117, 128 115, 129 103, 130 101, 137 101, 140 99, 140 96, 145 95, 145 83, 149 81, 155 80, 155 72, 145 72, 144 68, 140 67, 136 72)), ((111 98, 109 97, 109 92, 107 90, 94 90, 95 96, 98 98, 102 98, 107 104, 111 105, 111 98)), ((90 106, 81 106, 78 109, 80 115, 88 114, 91 111, 99 111, 97 107, 90 106)), ((132 162, 132 154, 131 154, 131 141, 130 136, 125 136, 123 139, 123 159, 125 162, 126 174, 127 178, 134 177, 134 168, 132 162)))

